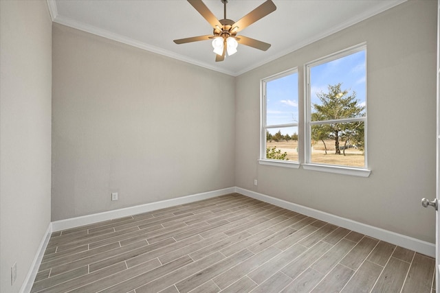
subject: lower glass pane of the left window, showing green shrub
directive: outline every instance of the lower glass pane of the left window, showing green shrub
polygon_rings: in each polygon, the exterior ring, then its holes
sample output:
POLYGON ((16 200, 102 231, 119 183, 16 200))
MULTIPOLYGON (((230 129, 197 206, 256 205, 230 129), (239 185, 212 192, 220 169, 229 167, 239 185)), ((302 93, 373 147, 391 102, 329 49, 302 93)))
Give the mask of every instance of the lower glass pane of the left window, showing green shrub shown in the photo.
POLYGON ((266 159, 298 162, 298 127, 267 129, 266 159))

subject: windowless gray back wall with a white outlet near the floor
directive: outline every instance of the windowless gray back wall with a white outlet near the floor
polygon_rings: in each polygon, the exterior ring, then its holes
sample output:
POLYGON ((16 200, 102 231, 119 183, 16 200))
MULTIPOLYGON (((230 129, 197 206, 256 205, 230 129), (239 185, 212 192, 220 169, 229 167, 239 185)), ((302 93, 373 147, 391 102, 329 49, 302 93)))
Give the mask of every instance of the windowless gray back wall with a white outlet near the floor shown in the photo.
POLYGON ((56 23, 53 76, 52 220, 234 186, 232 76, 56 23))

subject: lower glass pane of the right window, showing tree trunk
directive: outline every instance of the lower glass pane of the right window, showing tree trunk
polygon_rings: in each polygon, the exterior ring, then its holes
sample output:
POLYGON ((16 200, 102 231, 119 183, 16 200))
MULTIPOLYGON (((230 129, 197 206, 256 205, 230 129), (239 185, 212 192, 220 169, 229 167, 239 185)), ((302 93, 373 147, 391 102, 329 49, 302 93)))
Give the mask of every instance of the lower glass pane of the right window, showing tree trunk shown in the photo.
POLYGON ((364 122, 311 126, 311 163, 365 167, 364 122))

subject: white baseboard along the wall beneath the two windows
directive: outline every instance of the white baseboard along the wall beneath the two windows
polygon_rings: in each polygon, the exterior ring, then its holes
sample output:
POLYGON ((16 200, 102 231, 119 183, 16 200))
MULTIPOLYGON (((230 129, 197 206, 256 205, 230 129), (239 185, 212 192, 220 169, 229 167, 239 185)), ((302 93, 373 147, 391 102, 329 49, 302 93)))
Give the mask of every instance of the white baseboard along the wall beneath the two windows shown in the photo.
POLYGON ((297 213, 302 213, 303 215, 308 215, 309 217, 329 222, 330 224, 341 226, 349 230, 356 231, 358 233, 369 235, 371 237, 389 242, 391 244, 408 248, 410 250, 415 250, 417 251, 417 253, 421 253, 423 255, 435 257, 435 244, 430 242, 425 242, 416 238, 408 237, 406 235, 387 231, 382 228, 377 228, 375 226, 362 224, 360 222, 349 220, 347 218, 339 217, 338 215, 332 215, 331 213, 325 213, 323 211, 304 207, 300 204, 294 204, 293 202, 287 202, 286 200, 273 198, 272 196, 266 196, 265 194, 259 194, 248 189, 235 187, 235 192, 243 194, 243 196, 249 196, 250 198, 255 198, 256 200, 268 202, 270 204, 276 205, 277 207, 289 209, 290 211, 296 211, 297 213))

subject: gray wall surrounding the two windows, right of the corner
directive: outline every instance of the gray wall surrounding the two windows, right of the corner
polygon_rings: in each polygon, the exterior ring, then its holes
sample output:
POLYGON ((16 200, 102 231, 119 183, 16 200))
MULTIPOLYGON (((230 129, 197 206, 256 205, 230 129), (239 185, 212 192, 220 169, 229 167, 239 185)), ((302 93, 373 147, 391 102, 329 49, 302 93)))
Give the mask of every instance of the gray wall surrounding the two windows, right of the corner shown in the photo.
POLYGON ((434 243, 436 31, 437 1, 408 1, 239 76, 236 186, 434 243), (298 66, 303 89, 305 62, 364 41, 371 176, 259 165, 259 80, 298 66))

